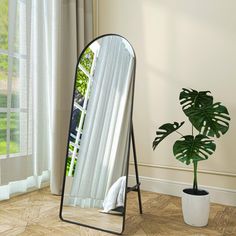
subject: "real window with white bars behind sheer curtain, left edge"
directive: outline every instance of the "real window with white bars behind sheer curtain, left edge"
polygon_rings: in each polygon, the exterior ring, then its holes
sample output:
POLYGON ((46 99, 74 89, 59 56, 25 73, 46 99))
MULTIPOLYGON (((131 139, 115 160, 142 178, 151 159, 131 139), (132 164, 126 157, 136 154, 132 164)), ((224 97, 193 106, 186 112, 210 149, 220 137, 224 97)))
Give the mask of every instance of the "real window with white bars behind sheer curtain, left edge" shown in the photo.
POLYGON ((0 158, 27 155, 31 140, 26 22, 25 1, 0 1, 0 158))

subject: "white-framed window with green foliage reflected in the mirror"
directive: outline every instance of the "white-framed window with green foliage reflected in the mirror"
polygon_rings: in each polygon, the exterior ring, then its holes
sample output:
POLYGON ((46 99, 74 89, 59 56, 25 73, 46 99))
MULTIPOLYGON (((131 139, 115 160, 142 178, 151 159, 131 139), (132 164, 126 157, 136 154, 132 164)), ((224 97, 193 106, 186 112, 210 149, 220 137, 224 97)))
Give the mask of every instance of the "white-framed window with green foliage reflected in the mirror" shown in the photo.
POLYGON ((77 68, 74 107, 70 127, 69 156, 67 158, 68 176, 74 175, 98 51, 99 45, 87 48, 80 58, 77 68))

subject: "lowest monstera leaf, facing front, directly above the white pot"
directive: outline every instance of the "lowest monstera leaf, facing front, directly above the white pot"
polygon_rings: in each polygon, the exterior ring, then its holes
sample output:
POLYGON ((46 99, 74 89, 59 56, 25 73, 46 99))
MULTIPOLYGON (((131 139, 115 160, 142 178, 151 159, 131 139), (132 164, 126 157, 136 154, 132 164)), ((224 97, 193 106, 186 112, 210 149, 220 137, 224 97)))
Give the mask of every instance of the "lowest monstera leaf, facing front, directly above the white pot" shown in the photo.
POLYGON ((173 146, 173 153, 179 161, 189 165, 192 162, 198 162, 208 159, 216 149, 213 140, 207 136, 198 134, 197 136, 186 135, 177 140, 173 146))

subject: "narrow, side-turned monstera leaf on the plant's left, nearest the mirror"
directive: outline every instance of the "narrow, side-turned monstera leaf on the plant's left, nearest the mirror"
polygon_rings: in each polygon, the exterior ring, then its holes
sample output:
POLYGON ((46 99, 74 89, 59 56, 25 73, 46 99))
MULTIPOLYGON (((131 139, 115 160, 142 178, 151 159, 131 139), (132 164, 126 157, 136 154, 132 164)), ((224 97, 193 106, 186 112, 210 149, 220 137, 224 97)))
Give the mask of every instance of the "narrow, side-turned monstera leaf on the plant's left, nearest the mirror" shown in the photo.
POLYGON ((184 124, 184 121, 181 123, 174 122, 173 124, 171 123, 166 123, 158 128, 156 131, 156 138, 154 139, 152 143, 152 148, 155 150, 156 146, 164 139, 166 138, 169 134, 173 133, 177 129, 179 129, 182 125, 184 124))

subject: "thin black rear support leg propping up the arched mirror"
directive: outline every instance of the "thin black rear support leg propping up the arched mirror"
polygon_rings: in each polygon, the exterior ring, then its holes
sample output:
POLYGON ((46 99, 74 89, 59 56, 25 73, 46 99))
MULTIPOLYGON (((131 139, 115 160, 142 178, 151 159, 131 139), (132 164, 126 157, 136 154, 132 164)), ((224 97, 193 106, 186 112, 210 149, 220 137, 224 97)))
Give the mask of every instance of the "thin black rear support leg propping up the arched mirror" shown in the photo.
POLYGON ((142 201, 141 201, 141 192, 140 192, 141 183, 139 181, 139 175, 138 175, 138 163, 137 163, 137 156, 136 156, 133 122, 131 122, 131 141, 132 141, 132 149, 133 149, 133 154, 134 154, 134 169, 135 169, 135 176, 136 176, 136 185, 134 185, 133 187, 128 187, 127 192, 135 191, 138 193, 139 212, 140 214, 142 214, 143 210, 142 210, 142 201))

